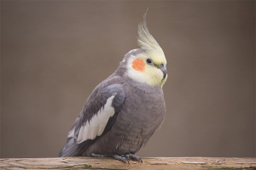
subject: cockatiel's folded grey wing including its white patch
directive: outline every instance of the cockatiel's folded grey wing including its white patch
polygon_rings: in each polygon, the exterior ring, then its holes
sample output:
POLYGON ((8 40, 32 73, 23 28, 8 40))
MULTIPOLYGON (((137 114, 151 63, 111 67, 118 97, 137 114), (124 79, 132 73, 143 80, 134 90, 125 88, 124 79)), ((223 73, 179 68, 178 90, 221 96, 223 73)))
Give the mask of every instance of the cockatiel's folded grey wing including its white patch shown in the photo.
POLYGON ((113 126, 125 100, 125 93, 122 84, 101 87, 96 87, 85 102, 58 157, 79 156, 88 145, 113 126))

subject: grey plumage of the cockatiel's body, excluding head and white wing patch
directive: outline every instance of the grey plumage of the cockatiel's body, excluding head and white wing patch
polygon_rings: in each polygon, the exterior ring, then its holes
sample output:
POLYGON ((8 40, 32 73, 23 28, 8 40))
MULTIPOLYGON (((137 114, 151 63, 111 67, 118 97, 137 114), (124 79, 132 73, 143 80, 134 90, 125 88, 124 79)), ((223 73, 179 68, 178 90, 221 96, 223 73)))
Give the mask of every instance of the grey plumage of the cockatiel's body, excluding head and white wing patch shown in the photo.
POLYGON ((58 156, 134 154, 160 127, 166 114, 162 88, 134 81, 125 74, 128 58, 138 53, 144 53, 143 49, 125 54, 119 68, 90 94, 72 127, 78 132, 79 127, 102 108, 109 96, 116 94, 112 103, 114 116, 109 118, 102 135, 82 144, 78 144, 75 138, 69 138, 58 156))

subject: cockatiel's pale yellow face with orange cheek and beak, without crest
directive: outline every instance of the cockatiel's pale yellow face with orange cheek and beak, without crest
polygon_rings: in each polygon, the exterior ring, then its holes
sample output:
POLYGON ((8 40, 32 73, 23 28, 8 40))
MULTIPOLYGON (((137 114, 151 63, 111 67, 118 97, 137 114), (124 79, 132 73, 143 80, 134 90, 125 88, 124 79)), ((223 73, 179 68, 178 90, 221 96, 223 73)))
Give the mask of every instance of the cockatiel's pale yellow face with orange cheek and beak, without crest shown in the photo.
POLYGON ((162 87, 167 79, 166 58, 156 53, 138 54, 128 60, 128 76, 138 82, 162 87))

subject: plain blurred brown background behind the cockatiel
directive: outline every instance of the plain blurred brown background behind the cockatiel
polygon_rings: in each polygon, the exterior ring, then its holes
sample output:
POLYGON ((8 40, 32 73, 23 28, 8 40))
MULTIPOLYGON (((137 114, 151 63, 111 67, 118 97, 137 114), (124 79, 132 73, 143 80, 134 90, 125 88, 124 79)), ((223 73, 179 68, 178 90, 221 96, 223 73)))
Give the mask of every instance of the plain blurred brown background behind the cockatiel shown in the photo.
POLYGON ((1 157, 53 157, 148 29, 166 120, 137 156, 255 156, 254 1, 1 1, 1 157))

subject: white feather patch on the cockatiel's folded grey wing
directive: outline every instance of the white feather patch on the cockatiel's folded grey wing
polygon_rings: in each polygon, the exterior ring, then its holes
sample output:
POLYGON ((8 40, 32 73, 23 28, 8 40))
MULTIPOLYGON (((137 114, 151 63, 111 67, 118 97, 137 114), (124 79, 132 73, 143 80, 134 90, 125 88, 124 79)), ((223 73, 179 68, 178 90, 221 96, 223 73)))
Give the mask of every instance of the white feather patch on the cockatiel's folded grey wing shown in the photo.
POLYGON ((116 94, 113 94, 107 99, 107 103, 92 116, 90 121, 86 122, 82 127, 80 127, 79 135, 74 136, 74 128, 67 135, 67 138, 77 138, 79 143, 84 142, 87 139, 95 139, 96 136, 101 136, 107 123, 108 119, 114 115, 114 108, 112 106, 113 98, 116 94))

